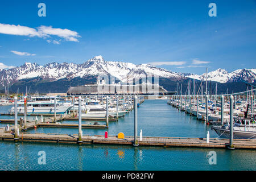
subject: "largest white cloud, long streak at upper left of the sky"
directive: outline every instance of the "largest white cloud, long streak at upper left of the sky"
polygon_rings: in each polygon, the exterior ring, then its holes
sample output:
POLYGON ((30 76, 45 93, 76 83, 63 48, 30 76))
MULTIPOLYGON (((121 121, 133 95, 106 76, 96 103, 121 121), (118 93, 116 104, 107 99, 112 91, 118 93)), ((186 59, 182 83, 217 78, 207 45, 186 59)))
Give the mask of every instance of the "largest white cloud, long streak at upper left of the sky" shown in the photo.
POLYGON ((76 31, 68 30, 67 28, 52 28, 52 26, 40 26, 38 28, 30 28, 26 26, 16 26, 14 24, 0 23, 0 34, 8 35, 22 35, 30 37, 46 38, 52 36, 59 36, 66 41, 79 42, 80 38, 76 31))

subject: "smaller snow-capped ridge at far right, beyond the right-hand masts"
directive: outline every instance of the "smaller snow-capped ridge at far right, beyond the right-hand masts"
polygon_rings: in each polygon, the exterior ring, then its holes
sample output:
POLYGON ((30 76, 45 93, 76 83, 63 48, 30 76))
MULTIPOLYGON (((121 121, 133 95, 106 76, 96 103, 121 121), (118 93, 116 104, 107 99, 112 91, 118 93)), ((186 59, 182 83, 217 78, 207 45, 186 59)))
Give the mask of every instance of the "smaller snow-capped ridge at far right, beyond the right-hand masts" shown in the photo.
POLYGON ((195 78, 197 80, 211 80, 221 83, 225 82, 238 82, 247 81, 254 82, 256 80, 256 69, 237 69, 231 73, 228 73, 225 69, 216 69, 216 71, 209 72, 208 75, 204 73, 203 75, 196 75, 193 73, 181 73, 181 75, 189 78, 195 78))

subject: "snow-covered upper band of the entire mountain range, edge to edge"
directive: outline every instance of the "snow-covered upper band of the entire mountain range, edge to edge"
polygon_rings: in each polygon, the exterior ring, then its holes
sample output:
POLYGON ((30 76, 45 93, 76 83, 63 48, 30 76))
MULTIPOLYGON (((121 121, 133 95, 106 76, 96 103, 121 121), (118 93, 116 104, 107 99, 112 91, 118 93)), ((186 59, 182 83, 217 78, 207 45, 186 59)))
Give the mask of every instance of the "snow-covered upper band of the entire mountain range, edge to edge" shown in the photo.
MULTIPOLYGON (((0 85, 5 86, 7 82, 14 83, 16 81, 42 77, 46 80, 59 80, 61 78, 87 77, 97 75, 112 75, 121 81, 132 81, 134 78, 141 78, 151 75, 159 77, 172 78, 181 80, 185 77, 195 78, 197 80, 206 80, 206 73, 196 75, 193 73, 176 73, 167 69, 157 68, 151 64, 124 63, 122 61, 105 61, 99 55, 95 56, 82 64, 75 63, 48 63, 46 65, 38 65, 36 63, 26 62, 20 67, 2 69, 0 71, 0 85)), ((228 73, 225 69, 217 69, 208 73, 208 80, 217 82, 232 82, 245 80, 254 82, 256 78, 256 69, 237 69, 228 73)))

